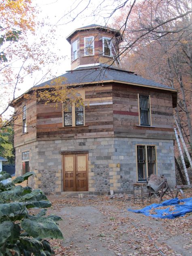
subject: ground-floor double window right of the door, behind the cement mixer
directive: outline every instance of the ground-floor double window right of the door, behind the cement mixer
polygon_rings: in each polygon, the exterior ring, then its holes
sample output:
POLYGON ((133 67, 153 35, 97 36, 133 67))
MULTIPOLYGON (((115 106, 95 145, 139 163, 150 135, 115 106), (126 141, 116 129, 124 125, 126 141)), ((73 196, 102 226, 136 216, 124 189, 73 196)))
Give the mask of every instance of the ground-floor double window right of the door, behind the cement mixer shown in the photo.
POLYGON ((151 174, 156 174, 156 149, 155 146, 137 146, 137 179, 146 181, 151 174))

